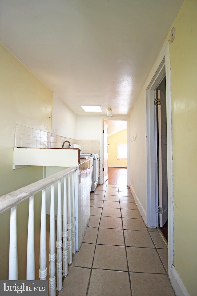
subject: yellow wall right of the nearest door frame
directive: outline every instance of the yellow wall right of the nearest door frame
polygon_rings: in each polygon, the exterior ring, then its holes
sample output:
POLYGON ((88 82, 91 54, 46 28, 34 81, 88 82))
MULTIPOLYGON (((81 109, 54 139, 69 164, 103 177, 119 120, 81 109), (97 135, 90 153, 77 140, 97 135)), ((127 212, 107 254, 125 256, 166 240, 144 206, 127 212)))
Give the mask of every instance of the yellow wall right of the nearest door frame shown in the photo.
POLYGON ((170 43, 174 170, 174 266, 197 295, 197 1, 186 0, 170 43))

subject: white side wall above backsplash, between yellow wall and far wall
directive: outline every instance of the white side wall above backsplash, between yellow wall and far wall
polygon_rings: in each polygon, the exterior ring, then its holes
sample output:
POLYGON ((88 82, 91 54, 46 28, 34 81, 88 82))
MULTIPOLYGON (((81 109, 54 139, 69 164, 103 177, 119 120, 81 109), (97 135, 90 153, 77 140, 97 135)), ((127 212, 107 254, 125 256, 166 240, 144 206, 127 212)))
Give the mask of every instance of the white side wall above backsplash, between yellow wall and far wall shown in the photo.
POLYGON ((53 94, 52 133, 54 132, 54 126, 56 128, 55 134, 76 139, 77 115, 55 93, 53 94))

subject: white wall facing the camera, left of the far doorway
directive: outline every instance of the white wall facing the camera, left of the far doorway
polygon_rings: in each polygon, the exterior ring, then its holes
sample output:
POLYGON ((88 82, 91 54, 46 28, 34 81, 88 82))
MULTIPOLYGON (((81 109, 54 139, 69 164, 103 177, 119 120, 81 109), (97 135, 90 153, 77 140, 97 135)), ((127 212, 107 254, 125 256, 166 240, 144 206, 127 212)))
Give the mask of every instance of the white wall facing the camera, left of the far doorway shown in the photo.
POLYGON ((98 140, 100 135, 99 116, 77 116, 77 140, 98 140))

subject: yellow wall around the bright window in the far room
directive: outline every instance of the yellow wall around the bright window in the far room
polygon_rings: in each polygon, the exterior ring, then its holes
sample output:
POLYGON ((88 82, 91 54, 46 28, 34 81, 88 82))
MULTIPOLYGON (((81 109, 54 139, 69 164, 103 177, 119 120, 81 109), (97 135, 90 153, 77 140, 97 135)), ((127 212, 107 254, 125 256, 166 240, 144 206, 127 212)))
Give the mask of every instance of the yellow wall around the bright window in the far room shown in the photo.
POLYGON ((127 130, 109 136, 108 165, 127 166, 127 159, 117 159, 117 144, 127 144, 127 130))

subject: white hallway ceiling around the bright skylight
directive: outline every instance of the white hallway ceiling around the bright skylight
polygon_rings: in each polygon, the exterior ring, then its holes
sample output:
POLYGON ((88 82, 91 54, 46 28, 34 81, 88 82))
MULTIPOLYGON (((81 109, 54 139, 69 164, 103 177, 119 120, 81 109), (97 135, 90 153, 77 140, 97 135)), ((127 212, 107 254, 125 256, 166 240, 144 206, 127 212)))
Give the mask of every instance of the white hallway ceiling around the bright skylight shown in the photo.
POLYGON ((0 0, 0 42, 76 114, 126 116, 182 3, 0 0))

